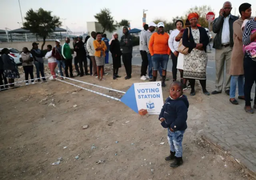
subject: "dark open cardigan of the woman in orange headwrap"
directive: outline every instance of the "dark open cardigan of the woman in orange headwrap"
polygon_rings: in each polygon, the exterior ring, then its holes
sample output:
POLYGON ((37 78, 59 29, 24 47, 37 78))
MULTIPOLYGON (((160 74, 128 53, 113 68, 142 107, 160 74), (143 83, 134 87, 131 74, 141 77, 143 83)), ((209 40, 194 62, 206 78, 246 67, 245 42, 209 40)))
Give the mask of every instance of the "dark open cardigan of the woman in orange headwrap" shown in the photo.
MULTIPOLYGON (((203 44, 204 51, 206 52, 207 45, 209 44, 209 38, 206 30, 204 27, 198 27, 199 33, 200 33, 200 40, 199 43, 203 44)), ((194 37, 191 32, 191 27, 189 27, 189 37, 188 37, 188 28, 184 30, 184 33, 182 35, 182 44, 185 47, 188 47, 188 53, 192 51, 192 49, 196 48, 196 43, 194 41, 194 37)))

